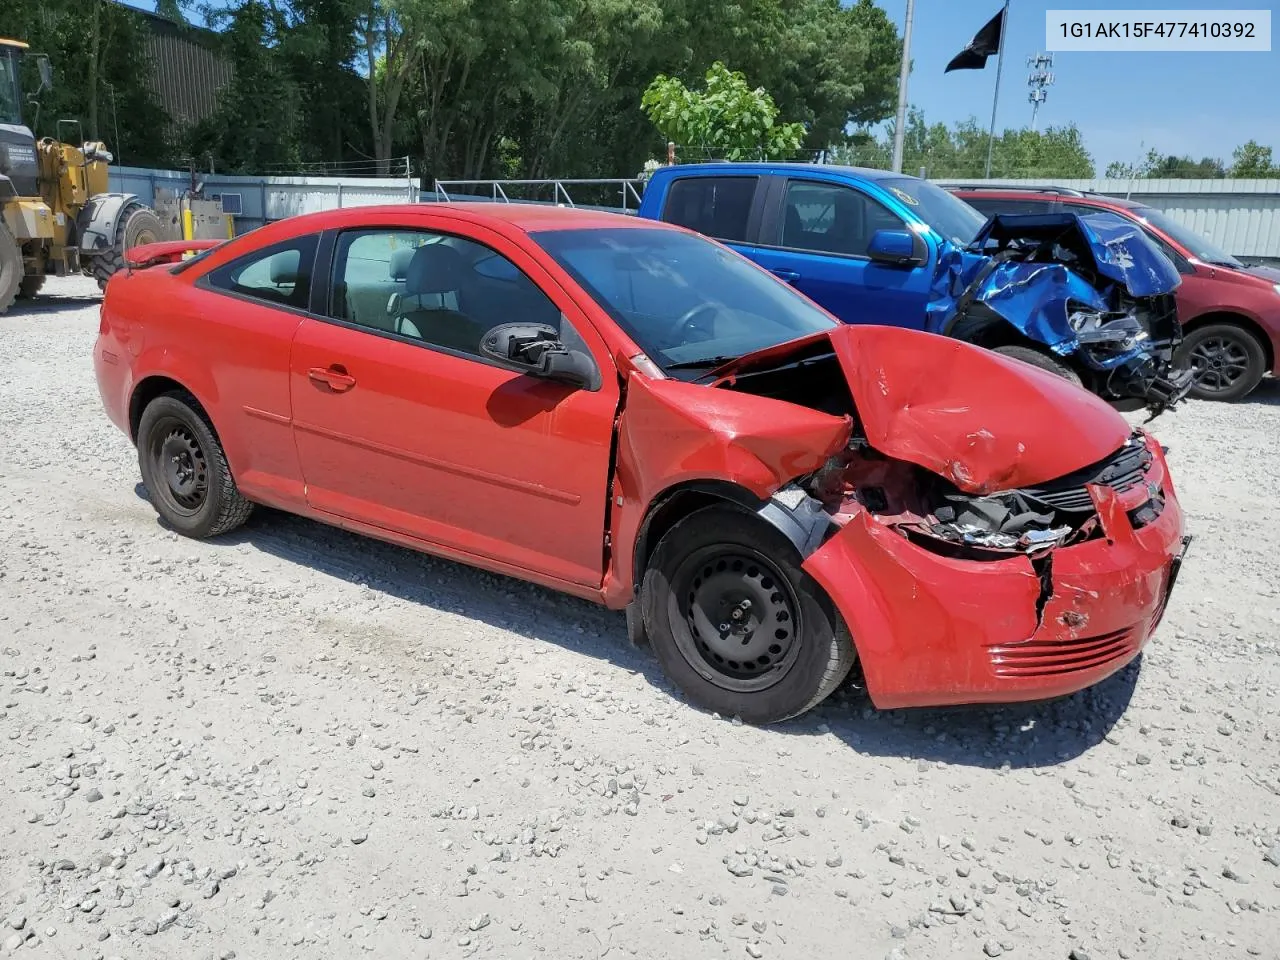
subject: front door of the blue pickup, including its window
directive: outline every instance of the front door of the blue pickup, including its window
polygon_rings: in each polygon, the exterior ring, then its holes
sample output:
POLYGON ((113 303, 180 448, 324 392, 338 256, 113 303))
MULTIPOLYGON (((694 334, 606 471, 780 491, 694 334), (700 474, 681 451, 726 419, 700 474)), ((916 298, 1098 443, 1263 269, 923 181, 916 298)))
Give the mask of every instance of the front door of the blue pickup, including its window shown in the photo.
POLYGON ((932 271, 872 260, 868 248, 881 229, 910 232, 865 191, 778 178, 751 257, 847 324, 923 328, 932 271))

